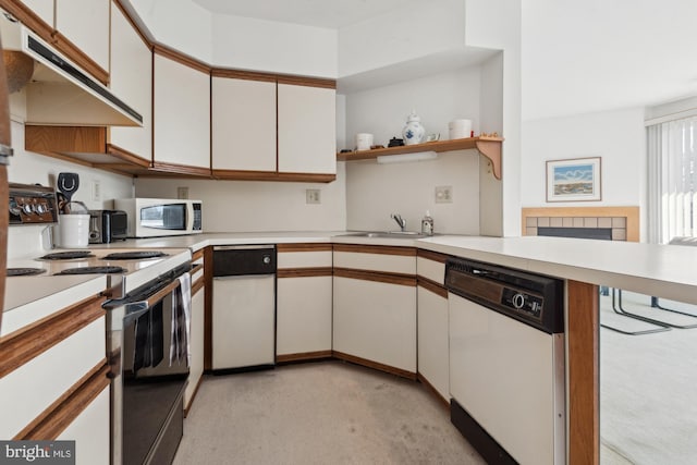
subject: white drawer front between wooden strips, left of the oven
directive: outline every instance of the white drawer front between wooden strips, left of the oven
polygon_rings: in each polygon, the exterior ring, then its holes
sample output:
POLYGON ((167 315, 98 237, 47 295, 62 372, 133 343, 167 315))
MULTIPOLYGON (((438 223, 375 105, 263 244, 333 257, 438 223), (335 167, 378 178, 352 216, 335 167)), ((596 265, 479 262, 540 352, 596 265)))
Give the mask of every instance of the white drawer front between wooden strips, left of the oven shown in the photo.
POLYGON ((103 360, 105 334, 102 316, 1 378, 0 438, 13 438, 103 360))

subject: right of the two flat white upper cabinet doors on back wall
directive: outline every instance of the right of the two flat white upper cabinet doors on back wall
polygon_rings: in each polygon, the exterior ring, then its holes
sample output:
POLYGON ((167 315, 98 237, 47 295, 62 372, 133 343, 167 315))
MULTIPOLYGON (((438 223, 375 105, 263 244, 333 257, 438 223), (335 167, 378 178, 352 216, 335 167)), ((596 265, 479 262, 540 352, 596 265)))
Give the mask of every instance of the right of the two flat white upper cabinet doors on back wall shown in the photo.
POLYGON ((278 85, 279 172, 337 173, 337 91, 278 85))

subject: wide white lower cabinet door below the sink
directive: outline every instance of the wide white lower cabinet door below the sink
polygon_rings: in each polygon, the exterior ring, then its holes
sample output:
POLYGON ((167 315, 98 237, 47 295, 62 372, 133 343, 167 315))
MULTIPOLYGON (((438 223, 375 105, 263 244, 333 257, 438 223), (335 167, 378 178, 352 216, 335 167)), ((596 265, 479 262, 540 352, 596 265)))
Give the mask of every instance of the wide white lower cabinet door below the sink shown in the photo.
POLYGON ((416 372, 416 286, 334 277, 334 351, 416 372))

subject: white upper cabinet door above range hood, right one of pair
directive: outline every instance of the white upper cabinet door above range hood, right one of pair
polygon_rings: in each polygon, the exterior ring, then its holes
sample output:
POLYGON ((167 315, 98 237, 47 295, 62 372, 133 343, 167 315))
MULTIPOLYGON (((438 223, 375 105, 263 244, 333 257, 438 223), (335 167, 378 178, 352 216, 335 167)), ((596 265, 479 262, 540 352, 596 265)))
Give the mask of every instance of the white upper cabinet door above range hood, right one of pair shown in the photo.
POLYGON ((109 71, 110 0, 56 0, 56 29, 109 71))

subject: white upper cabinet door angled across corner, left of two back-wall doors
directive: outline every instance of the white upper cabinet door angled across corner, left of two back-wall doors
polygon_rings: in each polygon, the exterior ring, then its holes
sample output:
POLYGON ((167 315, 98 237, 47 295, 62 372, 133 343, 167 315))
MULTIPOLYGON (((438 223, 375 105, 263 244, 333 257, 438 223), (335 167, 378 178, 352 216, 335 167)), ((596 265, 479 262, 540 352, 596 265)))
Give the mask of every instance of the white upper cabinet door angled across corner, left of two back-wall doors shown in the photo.
POLYGON ((154 161, 210 170, 210 74, 155 53, 154 161))

